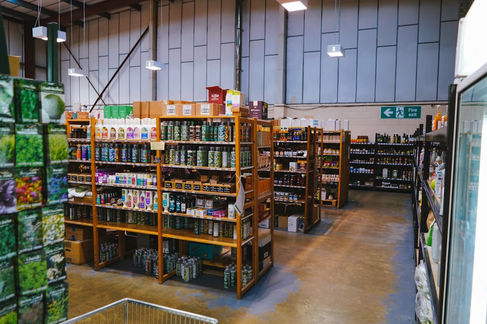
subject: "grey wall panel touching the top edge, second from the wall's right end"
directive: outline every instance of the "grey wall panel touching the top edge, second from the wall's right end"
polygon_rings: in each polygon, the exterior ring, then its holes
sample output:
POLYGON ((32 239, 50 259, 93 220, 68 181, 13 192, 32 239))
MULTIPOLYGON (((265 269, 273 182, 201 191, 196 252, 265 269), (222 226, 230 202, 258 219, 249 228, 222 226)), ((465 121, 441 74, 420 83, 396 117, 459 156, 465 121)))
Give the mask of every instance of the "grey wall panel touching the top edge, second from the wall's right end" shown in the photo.
POLYGON ((440 39, 440 1, 420 1, 419 43, 437 42, 440 39))

